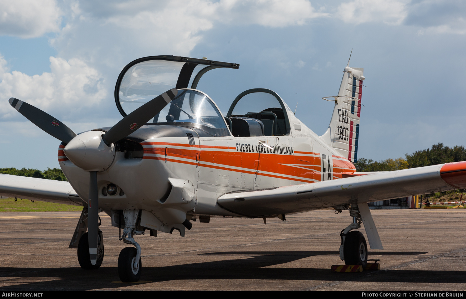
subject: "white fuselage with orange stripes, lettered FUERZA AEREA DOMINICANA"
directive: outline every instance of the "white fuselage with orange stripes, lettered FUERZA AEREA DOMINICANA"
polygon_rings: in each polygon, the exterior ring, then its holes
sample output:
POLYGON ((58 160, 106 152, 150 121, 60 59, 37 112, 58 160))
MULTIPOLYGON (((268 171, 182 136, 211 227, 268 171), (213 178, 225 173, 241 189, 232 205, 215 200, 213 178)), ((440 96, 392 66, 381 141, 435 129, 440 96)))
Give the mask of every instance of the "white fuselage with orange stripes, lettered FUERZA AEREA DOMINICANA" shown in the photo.
MULTIPOLYGON (((143 126, 116 144, 110 167, 98 172, 99 207, 108 213, 138 209, 157 215, 172 207, 188 214, 241 217, 219 206, 217 198, 235 191, 333 180, 356 171, 292 112, 286 113, 290 132, 284 136, 234 137, 229 131, 212 136, 202 126, 143 126), (192 184, 191 199, 167 201, 173 187, 183 183, 192 184), (108 184, 117 186, 115 195, 105 194, 108 184)), ((88 172, 60 150, 63 172, 80 197, 87 198, 88 172)))

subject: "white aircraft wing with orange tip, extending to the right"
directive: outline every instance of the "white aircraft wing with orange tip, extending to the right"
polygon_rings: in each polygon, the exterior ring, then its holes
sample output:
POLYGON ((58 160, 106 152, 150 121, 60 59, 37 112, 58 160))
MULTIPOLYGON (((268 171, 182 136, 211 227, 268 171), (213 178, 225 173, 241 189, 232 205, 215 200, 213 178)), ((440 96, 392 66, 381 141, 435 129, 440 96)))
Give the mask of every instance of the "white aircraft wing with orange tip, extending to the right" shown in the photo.
POLYGON ((240 215, 262 217, 463 188, 466 161, 268 190, 236 191, 222 195, 217 203, 240 215))

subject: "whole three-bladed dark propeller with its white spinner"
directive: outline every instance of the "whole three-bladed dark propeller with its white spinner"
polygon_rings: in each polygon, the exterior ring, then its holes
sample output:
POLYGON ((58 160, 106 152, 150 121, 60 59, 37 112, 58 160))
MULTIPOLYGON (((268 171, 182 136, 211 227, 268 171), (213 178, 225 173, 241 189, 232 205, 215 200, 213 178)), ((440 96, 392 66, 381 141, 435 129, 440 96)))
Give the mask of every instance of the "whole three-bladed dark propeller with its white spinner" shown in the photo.
POLYGON ((56 118, 41 109, 15 98, 8 100, 14 109, 18 110, 18 112, 36 126, 63 143, 67 143, 64 148, 65 155, 76 166, 89 171, 88 238, 89 256, 92 265, 96 265, 97 262, 97 244, 99 238, 97 172, 106 170, 113 161, 115 153, 112 143, 123 139, 139 129, 164 109, 177 94, 178 90, 176 88, 167 90, 125 116, 105 134, 102 134, 101 131, 89 131, 78 136, 62 122, 59 122, 56 118))

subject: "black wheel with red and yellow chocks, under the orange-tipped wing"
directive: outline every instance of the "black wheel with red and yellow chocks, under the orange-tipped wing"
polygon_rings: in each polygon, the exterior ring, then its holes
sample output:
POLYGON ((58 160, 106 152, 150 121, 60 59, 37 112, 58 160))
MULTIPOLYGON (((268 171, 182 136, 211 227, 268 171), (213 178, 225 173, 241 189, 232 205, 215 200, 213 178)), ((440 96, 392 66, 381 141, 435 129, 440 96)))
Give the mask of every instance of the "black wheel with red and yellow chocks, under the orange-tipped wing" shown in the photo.
POLYGON ((345 265, 363 265, 363 268, 367 265, 366 239, 360 231, 350 231, 346 234, 343 258, 345 265))

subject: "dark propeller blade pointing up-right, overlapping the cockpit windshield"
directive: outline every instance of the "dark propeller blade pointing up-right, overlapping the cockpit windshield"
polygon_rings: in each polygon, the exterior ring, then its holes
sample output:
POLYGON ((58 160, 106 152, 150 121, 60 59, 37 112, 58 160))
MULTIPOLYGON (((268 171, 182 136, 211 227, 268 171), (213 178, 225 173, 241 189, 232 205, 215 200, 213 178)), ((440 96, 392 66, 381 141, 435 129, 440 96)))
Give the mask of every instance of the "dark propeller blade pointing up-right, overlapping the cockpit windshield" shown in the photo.
POLYGON ((178 95, 178 90, 172 88, 134 110, 105 133, 103 142, 110 145, 130 135, 164 109, 176 95, 178 95))

